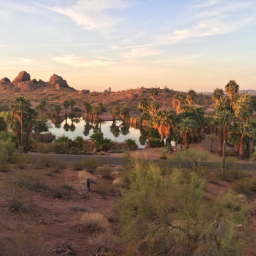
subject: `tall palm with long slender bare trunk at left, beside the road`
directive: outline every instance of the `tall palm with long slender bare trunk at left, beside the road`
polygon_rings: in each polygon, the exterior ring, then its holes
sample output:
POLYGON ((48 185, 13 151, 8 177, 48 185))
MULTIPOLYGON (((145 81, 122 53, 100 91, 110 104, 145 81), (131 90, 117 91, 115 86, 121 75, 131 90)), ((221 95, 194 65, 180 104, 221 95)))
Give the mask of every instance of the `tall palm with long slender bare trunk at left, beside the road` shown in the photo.
POLYGON ((12 114, 20 122, 20 127, 21 127, 21 153, 23 153, 23 151, 24 151, 23 120, 24 120, 24 115, 27 113, 27 111, 29 110, 30 107, 31 107, 31 103, 29 102, 29 100, 25 99, 22 96, 18 96, 11 104, 12 114))

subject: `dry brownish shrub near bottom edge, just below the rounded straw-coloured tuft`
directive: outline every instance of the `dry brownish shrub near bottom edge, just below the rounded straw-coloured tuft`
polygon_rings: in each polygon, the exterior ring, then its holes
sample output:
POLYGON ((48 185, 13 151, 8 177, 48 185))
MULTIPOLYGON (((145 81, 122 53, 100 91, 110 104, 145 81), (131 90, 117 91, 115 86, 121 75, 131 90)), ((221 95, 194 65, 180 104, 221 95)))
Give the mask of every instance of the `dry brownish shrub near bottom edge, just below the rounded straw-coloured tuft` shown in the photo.
POLYGON ((109 251, 113 248, 113 235, 108 230, 105 232, 95 233, 90 236, 89 243, 96 249, 96 251, 109 251))

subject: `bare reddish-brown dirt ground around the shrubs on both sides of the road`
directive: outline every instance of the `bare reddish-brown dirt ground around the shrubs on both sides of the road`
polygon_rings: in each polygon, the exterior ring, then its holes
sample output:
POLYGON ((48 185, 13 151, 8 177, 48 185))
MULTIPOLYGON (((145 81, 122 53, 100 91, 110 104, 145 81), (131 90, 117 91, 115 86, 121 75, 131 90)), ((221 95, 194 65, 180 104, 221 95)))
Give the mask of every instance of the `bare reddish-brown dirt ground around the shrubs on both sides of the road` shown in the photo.
MULTIPOLYGON (((209 138, 208 138, 209 139, 209 138)), ((198 144, 191 144, 190 147, 210 151, 210 141, 205 139, 198 144)), ((218 141, 213 143, 212 159, 220 159, 216 156, 218 141)), ((139 149, 133 152, 138 157, 157 159, 162 156, 161 148, 139 149)), ((167 153, 171 158, 177 151, 167 153)), ((118 155, 120 154, 111 154, 118 155)), ((248 161, 248 160, 244 160, 248 161)), ((35 166, 28 164, 25 169, 17 169, 11 165, 11 172, 0 172, 0 186, 3 188, 3 181, 19 175, 28 173, 34 178, 39 178, 44 183, 40 189, 28 190, 26 201, 19 212, 9 209, 6 201, 0 197, 0 255, 18 255, 17 250, 35 251, 31 255, 76 255, 96 256, 107 255, 96 251, 91 245, 89 238, 94 234, 82 225, 84 212, 72 210, 78 206, 90 207, 93 212, 104 215, 111 225, 111 232, 119 236, 120 228, 117 216, 114 212, 114 203, 119 195, 118 189, 113 186, 113 180, 122 175, 122 168, 111 168, 108 177, 102 172, 96 171, 90 174, 95 181, 91 184, 90 192, 83 197, 79 194, 79 171, 74 170, 73 165, 46 167, 35 169, 35 166), (121 170, 121 171, 120 171, 121 170), (13 175, 13 176, 11 176, 13 175), (9 177, 9 178, 8 178, 9 177), (62 198, 56 198, 53 188, 56 184, 65 183, 66 191, 62 198)), ((24 181, 25 182, 25 181, 24 181)), ((218 197, 232 187, 231 183, 218 179, 216 184, 206 184, 206 194, 209 198, 218 197)), ((3 189, 1 189, 3 191, 3 189)), ((242 239, 245 240, 244 256, 256 256, 256 202, 255 194, 250 195, 248 201, 251 209, 248 212, 248 220, 239 228, 242 239)), ((114 246, 114 255, 122 255, 123 245, 118 242, 114 246)), ((20 254, 30 255, 30 254, 20 254)), ((113 254, 111 254, 113 255, 113 254)))

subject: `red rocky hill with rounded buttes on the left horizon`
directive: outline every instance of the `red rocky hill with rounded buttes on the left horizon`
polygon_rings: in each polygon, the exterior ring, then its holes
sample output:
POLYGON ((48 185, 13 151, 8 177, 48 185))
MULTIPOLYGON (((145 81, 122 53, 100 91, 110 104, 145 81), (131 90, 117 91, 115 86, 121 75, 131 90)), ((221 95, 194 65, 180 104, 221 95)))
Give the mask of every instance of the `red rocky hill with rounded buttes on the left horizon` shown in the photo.
POLYGON ((31 91, 42 89, 46 90, 64 90, 64 91, 76 91, 74 88, 67 84, 61 76, 53 74, 48 82, 44 82, 39 79, 30 79, 29 73, 21 71, 18 76, 11 82, 9 78, 2 78, 0 80, 0 90, 12 90, 12 91, 31 91))

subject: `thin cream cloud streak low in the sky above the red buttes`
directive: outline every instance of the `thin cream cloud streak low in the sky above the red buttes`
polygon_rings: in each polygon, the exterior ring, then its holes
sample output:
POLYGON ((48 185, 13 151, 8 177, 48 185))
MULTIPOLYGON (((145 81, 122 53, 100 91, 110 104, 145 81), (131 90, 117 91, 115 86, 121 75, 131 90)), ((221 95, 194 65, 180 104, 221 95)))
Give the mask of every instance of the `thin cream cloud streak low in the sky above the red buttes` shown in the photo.
POLYGON ((53 61, 70 65, 73 67, 103 67, 113 65, 114 62, 104 58, 91 58, 86 59, 84 57, 75 56, 72 54, 61 55, 61 56, 50 56, 53 61))

